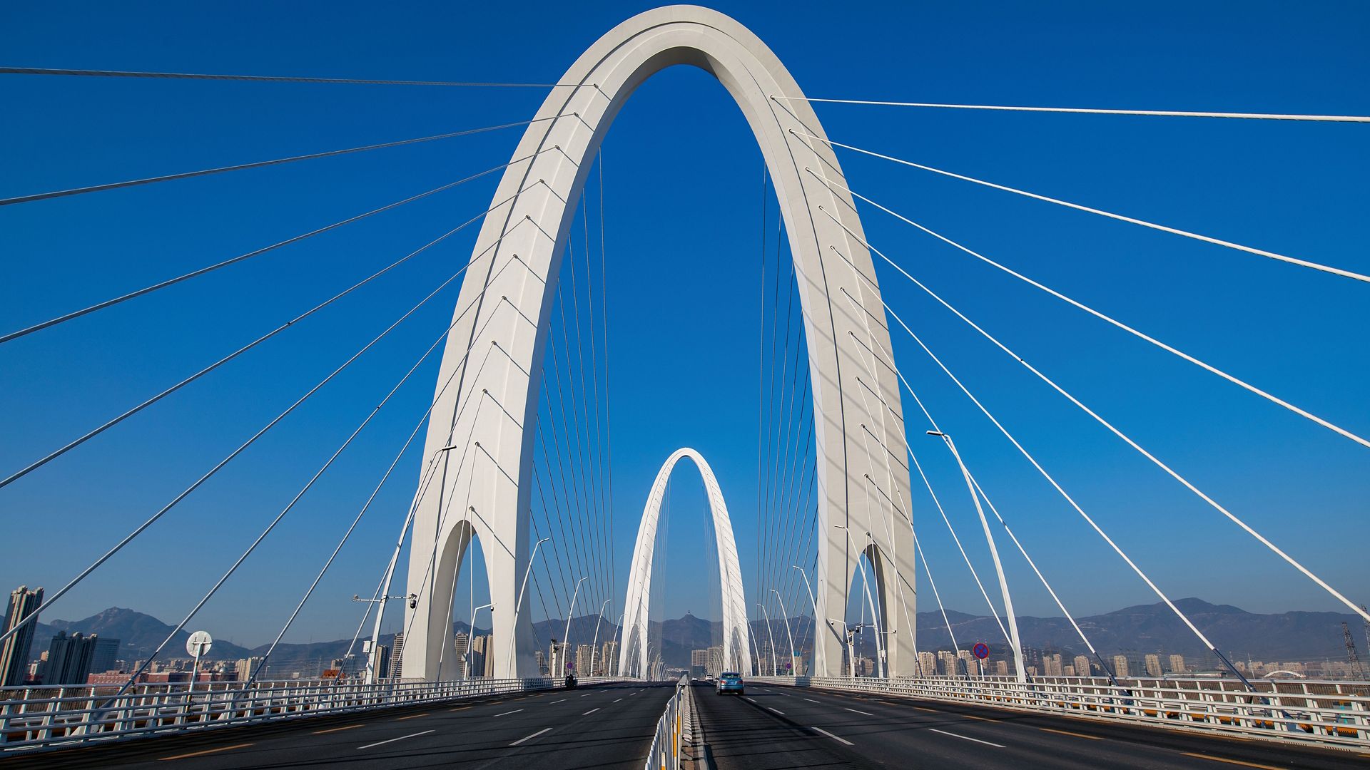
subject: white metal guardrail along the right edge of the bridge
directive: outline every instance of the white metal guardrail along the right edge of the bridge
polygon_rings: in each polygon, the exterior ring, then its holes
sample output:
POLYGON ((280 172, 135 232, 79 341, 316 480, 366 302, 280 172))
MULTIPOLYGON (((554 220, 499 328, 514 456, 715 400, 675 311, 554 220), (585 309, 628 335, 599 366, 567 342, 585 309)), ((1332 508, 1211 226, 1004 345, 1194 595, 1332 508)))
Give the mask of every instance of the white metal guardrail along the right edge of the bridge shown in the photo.
POLYGON ((1119 686, 1092 677, 754 680, 1370 751, 1370 682, 1256 680, 1251 692, 1236 680, 1201 678, 1129 678, 1119 686))

